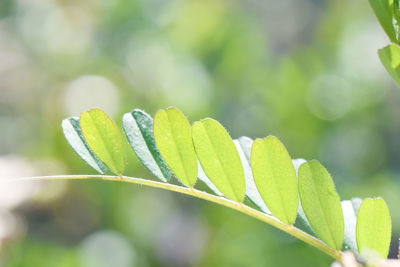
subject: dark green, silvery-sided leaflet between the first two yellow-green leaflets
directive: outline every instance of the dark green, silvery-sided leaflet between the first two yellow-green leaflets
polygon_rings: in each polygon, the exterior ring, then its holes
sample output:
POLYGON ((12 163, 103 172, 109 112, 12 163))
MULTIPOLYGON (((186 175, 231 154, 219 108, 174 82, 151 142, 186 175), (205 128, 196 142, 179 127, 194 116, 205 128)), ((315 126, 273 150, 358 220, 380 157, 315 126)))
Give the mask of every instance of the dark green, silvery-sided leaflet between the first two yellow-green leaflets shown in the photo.
POLYGON ((163 182, 171 179, 171 171, 161 157, 153 135, 153 119, 146 112, 134 109, 122 117, 125 135, 142 164, 163 182))

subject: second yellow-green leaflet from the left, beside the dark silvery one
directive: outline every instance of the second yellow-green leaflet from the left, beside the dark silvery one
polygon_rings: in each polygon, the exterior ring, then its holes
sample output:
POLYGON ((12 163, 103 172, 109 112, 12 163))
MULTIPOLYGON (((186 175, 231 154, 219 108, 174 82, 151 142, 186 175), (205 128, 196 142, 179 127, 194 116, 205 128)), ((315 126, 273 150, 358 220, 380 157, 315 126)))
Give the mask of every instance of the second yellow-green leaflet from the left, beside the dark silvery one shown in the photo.
POLYGON ((177 108, 159 110, 154 117, 154 138, 174 175, 192 187, 197 178, 197 158, 189 121, 177 108))

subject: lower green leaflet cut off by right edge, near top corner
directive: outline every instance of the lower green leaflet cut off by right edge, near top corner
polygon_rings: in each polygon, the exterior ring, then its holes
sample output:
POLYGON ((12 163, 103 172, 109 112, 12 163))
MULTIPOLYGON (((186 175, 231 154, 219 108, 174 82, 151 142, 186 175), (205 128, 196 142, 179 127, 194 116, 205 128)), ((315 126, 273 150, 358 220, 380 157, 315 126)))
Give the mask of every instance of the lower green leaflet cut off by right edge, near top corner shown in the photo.
POLYGON ((400 86, 400 46, 390 44, 378 50, 378 55, 386 71, 400 86))

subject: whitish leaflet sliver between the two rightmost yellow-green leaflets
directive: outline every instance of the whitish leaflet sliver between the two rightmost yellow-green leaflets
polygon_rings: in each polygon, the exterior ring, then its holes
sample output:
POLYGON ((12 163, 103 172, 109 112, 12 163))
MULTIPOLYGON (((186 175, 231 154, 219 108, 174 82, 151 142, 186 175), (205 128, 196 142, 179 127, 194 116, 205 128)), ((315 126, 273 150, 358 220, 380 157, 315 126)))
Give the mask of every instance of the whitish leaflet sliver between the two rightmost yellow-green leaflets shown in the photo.
POLYGON ((360 208, 362 199, 352 198, 351 200, 342 201, 342 210, 344 218, 344 239, 343 248, 344 250, 352 250, 357 252, 356 242, 356 224, 357 224, 357 213, 360 208))

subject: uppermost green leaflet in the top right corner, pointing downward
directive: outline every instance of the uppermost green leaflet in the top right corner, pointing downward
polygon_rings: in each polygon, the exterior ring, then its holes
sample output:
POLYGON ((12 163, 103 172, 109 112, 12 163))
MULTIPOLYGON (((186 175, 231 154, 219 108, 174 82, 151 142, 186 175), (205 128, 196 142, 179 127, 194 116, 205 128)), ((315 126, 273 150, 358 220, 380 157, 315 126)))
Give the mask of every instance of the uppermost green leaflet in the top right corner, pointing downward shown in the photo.
POLYGON ((368 2, 390 41, 397 43, 393 26, 393 0, 368 0, 368 2))

